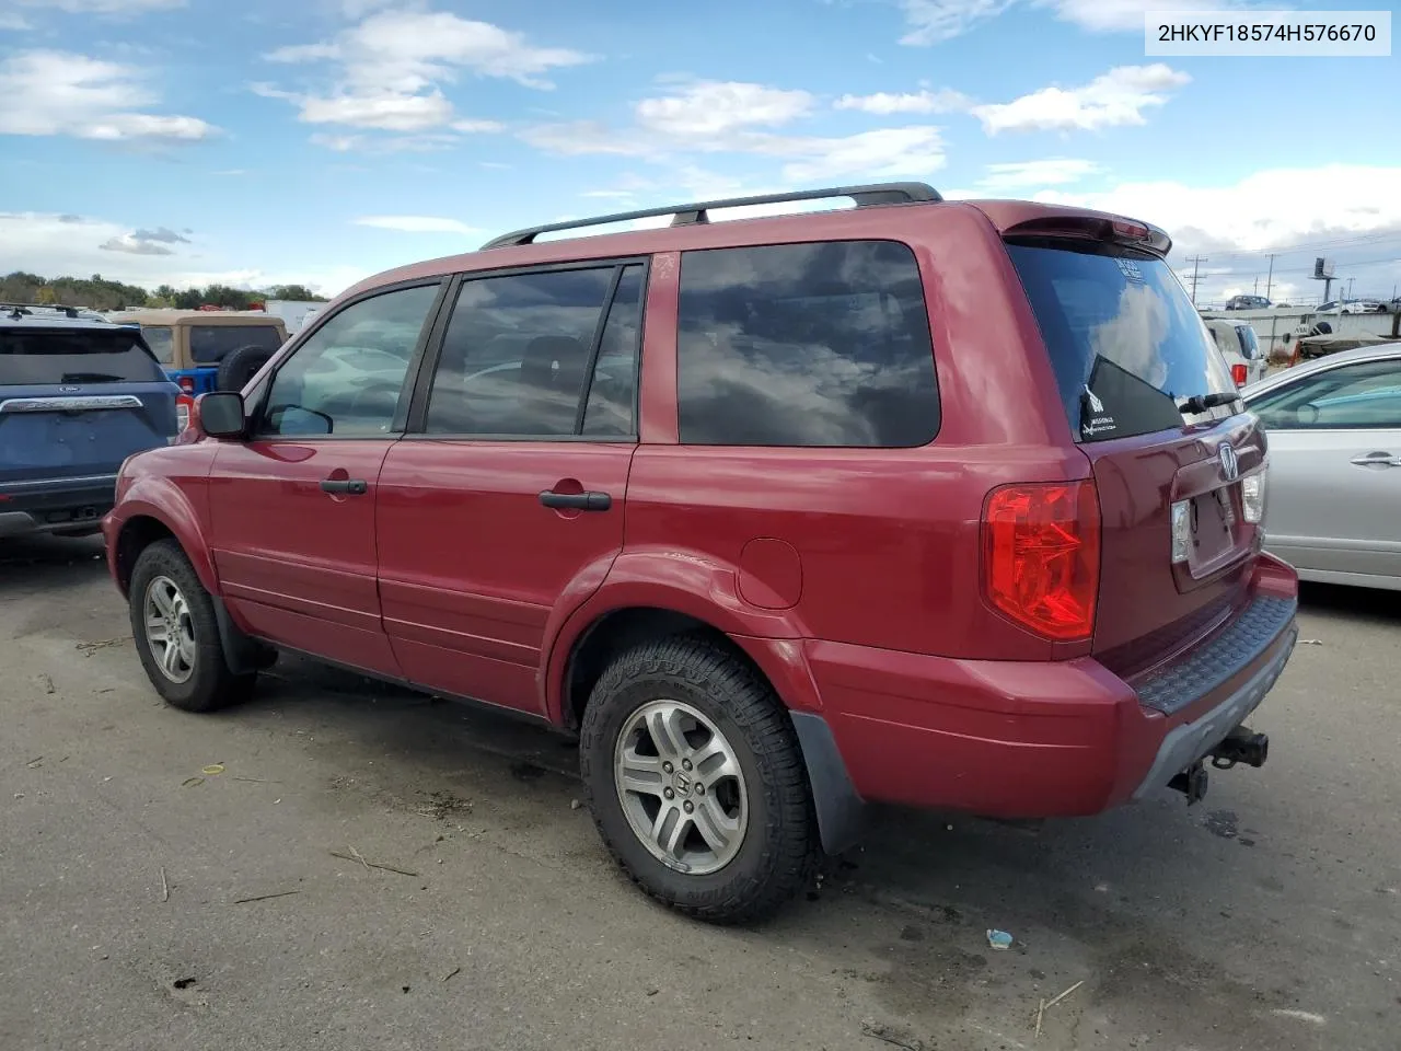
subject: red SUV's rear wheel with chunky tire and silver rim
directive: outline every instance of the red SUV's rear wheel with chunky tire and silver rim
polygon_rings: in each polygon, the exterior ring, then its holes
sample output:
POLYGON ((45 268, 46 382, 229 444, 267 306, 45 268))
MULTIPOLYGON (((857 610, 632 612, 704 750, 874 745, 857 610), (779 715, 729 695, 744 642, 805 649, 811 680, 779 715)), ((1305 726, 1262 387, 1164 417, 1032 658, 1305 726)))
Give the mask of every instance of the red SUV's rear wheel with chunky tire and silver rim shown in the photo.
POLYGON ((584 710, 580 767, 604 844, 679 912, 755 922, 813 879, 815 817, 793 722, 754 668, 708 639, 616 657, 584 710))

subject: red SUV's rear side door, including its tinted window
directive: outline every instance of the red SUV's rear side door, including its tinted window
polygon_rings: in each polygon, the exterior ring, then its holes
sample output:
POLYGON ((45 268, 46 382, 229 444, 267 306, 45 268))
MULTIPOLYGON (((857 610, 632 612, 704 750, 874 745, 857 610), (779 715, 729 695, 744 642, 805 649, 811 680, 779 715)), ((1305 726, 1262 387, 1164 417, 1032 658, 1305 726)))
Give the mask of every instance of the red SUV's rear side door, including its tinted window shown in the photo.
POLYGON ((384 625, 415 685, 542 713, 551 611, 622 549, 644 284, 642 262, 462 282, 380 475, 384 625))

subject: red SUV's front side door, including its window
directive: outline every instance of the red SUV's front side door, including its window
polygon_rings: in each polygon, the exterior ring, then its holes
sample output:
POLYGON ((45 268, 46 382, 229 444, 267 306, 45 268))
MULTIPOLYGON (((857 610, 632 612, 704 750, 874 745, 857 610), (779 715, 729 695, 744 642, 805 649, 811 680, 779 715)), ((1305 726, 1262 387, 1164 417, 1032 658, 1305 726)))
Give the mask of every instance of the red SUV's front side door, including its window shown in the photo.
POLYGON ((252 633, 398 674, 380 621, 374 503, 441 290, 381 291, 328 317, 259 384, 251 437, 220 447, 214 565, 252 633))

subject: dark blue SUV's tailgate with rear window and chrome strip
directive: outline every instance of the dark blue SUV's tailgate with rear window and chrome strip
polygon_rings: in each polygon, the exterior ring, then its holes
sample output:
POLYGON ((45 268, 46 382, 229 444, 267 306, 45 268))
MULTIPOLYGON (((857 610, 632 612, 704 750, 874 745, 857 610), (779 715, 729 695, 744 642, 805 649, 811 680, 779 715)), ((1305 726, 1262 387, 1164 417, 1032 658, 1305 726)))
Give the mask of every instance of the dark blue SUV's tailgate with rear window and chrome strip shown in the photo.
POLYGON ((175 434, 178 394, 139 329, 0 324, 0 490, 111 485, 175 434))

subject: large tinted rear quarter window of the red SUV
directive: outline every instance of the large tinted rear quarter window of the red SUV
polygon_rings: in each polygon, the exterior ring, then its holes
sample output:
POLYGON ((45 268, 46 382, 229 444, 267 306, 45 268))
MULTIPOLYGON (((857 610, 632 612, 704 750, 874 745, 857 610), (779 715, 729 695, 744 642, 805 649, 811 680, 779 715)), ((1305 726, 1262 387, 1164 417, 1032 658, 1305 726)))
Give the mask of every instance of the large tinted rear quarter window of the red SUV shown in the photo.
POLYGON ((922 446, 939 432, 915 255, 894 241, 685 252, 681 441, 922 446))

